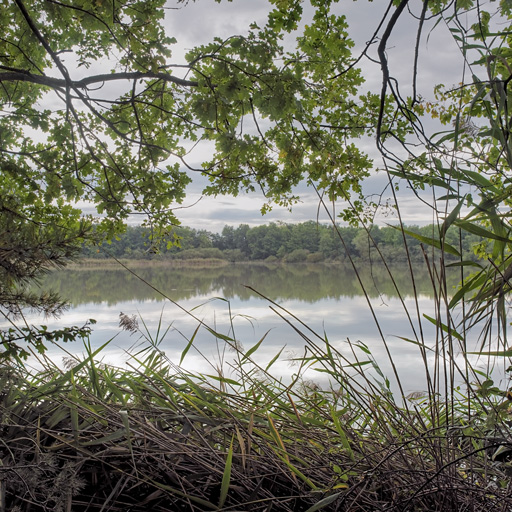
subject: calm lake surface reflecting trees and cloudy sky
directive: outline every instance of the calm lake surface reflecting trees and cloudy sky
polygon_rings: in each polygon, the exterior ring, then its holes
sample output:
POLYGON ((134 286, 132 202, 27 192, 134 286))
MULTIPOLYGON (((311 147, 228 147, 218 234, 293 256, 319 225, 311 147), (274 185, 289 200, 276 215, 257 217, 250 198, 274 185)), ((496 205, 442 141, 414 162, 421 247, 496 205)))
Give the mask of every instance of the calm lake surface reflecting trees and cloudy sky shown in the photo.
MULTIPOLYGON (((56 327, 82 325, 94 318, 97 324, 92 344, 100 346, 113 338, 103 358, 114 364, 123 364, 127 351, 133 351, 142 343, 140 335, 119 328, 121 312, 136 315, 141 330, 146 332, 147 329, 153 338, 159 336, 160 325, 160 348, 175 363, 179 362, 188 340, 202 321, 215 331, 236 338, 246 350, 266 336, 255 357, 261 364, 270 361, 285 347, 273 374, 286 379, 296 371, 289 359, 303 355, 305 350, 303 337, 278 314, 297 325, 286 313, 289 312, 320 336, 327 336, 330 343, 348 357, 347 340, 364 342, 383 372, 391 378, 389 359, 369 301, 406 392, 424 388, 418 348, 400 339, 414 338, 417 317, 411 326, 398 293, 382 268, 361 269, 367 297, 354 271, 341 266, 239 264, 218 268, 137 268, 136 272, 142 280, 121 268, 51 274, 45 286, 69 300, 71 308, 59 321, 41 322, 34 317, 28 320, 56 327)), ((413 313, 415 303, 406 269, 394 268, 393 274, 406 308, 413 313)), ((415 277, 421 314, 433 315, 434 300, 426 270, 417 269, 415 277)), ((454 276, 452 284, 456 283, 454 276)), ((426 340, 431 339, 433 343, 433 328, 424 320, 423 324, 426 340)), ((304 327, 301 329, 306 332, 304 327)), ((313 337, 311 333, 308 336, 313 337)), ((190 350, 183 362, 187 369, 211 373, 210 365, 218 366, 232 357, 224 343, 204 327, 199 329, 194 346, 201 354, 190 350)), ((78 344, 68 344, 66 349, 74 353, 83 351, 78 344)), ((55 348, 49 353, 55 360, 62 357, 62 352, 55 348)), ((323 374, 314 371, 309 371, 308 377, 320 383, 325 380, 323 374)))

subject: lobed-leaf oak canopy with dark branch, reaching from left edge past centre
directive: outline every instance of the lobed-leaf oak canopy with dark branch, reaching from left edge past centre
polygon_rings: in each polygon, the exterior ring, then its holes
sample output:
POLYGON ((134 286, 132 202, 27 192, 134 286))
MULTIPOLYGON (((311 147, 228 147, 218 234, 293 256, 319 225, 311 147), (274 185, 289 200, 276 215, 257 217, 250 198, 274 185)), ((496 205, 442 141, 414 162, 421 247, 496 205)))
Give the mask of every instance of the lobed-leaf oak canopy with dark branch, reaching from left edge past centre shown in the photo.
POLYGON ((194 172, 209 177, 207 194, 258 187, 287 205, 305 177, 333 197, 359 194, 370 160, 352 140, 372 130, 372 98, 356 96, 362 77, 344 18, 332 15, 331 1, 311 5, 314 18, 292 51, 282 39, 302 6, 287 0, 269 5, 265 26, 174 64, 163 0, 5 3, 0 305, 58 312, 57 297, 19 287, 65 264, 82 241, 115 237, 129 216, 174 242, 194 172), (202 143, 215 149, 194 167, 189 148, 202 143), (84 201, 101 216, 94 230, 76 206, 84 201))

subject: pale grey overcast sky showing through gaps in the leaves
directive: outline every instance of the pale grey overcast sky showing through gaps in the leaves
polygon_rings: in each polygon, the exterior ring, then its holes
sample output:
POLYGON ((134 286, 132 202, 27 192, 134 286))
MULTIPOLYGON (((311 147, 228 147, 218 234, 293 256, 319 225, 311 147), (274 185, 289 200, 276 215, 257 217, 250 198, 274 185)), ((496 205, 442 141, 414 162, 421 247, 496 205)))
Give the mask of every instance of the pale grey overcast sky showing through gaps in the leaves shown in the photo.
MULTIPOLYGON (((388 45, 390 71, 392 76, 402 84, 404 96, 410 94, 410 88, 407 86, 410 85, 412 78, 412 50, 417 30, 417 24, 411 14, 419 14, 421 9, 419 0, 413 0, 410 4, 412 12, 404 14, 388 45)), ((178 45, 174 49, 173 63, 183 62, 183 56, 188 49, 207 43, 215 36, 245 34, 250 23, 254 21, 260 26, 264 25, 269 11, 267 0, 234 0, 233 2, 223 1, 220 4, 213 0, 198 0, 189 2, 186 6, 180 4, 182 7, 179 9, 172 8, 175 5, 175 3, 168 4, 171 8, 167 10, 165 20, 169 35, 178 40, 178 45)), ((305 8, 308 5, 309 2, 306 1, 305 8)), ((345 14, 349 22, 349 33, 356 43, 354 55, 359 54, 364 49, 365 43, 372 37, 387 5, 388 2, 384 0, 378 2, 340 0, 336 4, 337 12, 345 14)), ((308 11, 305 16, 308 16, 308 11)), ((433 85, 440 82, 455 84, 460 81, 462 72, 460 53, 446 26, 439 25, 427 41, 430 28, 427 24, 421 45, 421 65, 418 76, 420 93, 426 98, 432 98, 433 85)), ((370 52, 371 57, 375 58, 375 55, 376 48, 370 52)), ((375 92, 380 91, 380 66, 365 59, 361 67, 366 79, 366 87, 375 92)), ((361 140, 358 145, 374 158, 376 168, 381 165, 373 140, 361 140)), ((200 192, 206 181, 197 175, 193 178, 194 183, 187 189, 187 200, 184 203, 184 206, 193 206, 183 208, 177 213, 185 225, 194 228, 220 231, 226 224, 256 225, 276 220, 303 222, 315 220, 319 212, 321 220, 327 219, 323 208, 319 208, 319 200, 314 190, 306 186, 298 189, 301 203, 293 207, 291 212, 276 206, 271 213, 262 217, 260 208, 265 203, 262 195, 241 195, 237 198, 202 197, 200 192)), ((382 173, 371 178, 365 190, 368 193, 378 194, 386 183, 387 178, 382 173)), ((425 224, 432 221, 429 209, 421 208, 417 201, 406 194, 406 190, 402 189, 400 194, 403 198, 401 210, 406 223, 425 224)), ((334 207, 335 210, 339 210, 342 206, 343 204, 340 203, 334 207)), ((389 222, 390 218, 381 217, 380 220, 389 222)))

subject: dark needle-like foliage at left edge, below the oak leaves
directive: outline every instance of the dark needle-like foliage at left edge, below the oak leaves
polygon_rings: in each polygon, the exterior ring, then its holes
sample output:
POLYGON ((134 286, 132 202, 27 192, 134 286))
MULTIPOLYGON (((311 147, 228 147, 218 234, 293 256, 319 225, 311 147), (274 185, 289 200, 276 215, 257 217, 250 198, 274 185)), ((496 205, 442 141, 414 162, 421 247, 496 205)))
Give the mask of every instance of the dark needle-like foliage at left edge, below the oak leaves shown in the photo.
POLYGON ((91 236, 90 223, 78 212, 62 204, 45 206, 33 197, 30 200, 34 202, 23 204, 22 193, 14 189, 0 196, 0 313, 8 322, 0 330, 4 349, 0 359, 27 357, 27 343, 43 352, 47 343, 80 339, 90 332, 88 326, 50 332, 45 326, 20 327, 13 321, 26 309, 46 316, 58 316, 66 309, 57 293, 36 290, 34 283, 78 258, 84 239, 91 236))

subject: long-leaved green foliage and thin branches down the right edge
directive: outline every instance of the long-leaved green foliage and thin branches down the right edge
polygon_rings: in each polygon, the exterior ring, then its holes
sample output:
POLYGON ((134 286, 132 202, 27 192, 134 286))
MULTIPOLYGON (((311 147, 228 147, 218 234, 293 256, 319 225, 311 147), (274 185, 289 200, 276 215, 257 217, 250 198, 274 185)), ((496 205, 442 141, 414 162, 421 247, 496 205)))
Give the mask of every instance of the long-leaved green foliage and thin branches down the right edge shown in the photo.
MULTIPOLYGON (((398 18, 404 16, 406 4, 406 1, 399 3, 396 16, 386 28, 388 36, 398 18)), ((483 319, 488 326, 496 320, 498 337, 494 341, 506 346, 509 323, 506 295, 510 291, 512 242, 508 109, 508 84, 512 73, 510 5, 509 2, 491 2, 484 6, 473 1, 453 4, 440 1, 429 3, 428 8, 437 24, 449 29, 460 49, 463 79, 452 87, 438 85, 435 101, 422 97, 416 82, 412 96, 406 98, 403 92, 394 94, 395 109, 409 118, 410 133, 414 132, 415 136, 400 137, 402 124, 398 124, 396 130, 393 125, 386 126, 386 136, 379 138, 379 144, 386 155, 391 179, 397 183, 406 181, 416 191, 427 187, 433 190, 429 206, 438 219, 438 229, 423 242, 458 254, 461 267, 475 269, 474 263, 460 254, 457 240, 448 239, 449 228, 485 239, 480 244, 479 254, 489 264, 477 267, 474 276, 448 301, 448 314, 460 307, 468 308, 463 326, 459 326, 462 330, 483 319), (440 123, 437 133, 430 133, 423 124, 432 119, 440 123), (399 150, 391 148, 390 140, 398 143, 399 150)), ((427 16, 425 3, 419 18, 417 44, 427 16)), ((416 47, 416 58, 418 51, 416 47)), ((385 71, 384 92, 395 88, 395 84, 390 78, 386 56, 379 52, 379 57, 385 71)), ((384 133, 381 128, 379 132, 384 133)), ((487 329, 486 333, 490 331, 487 329)))

